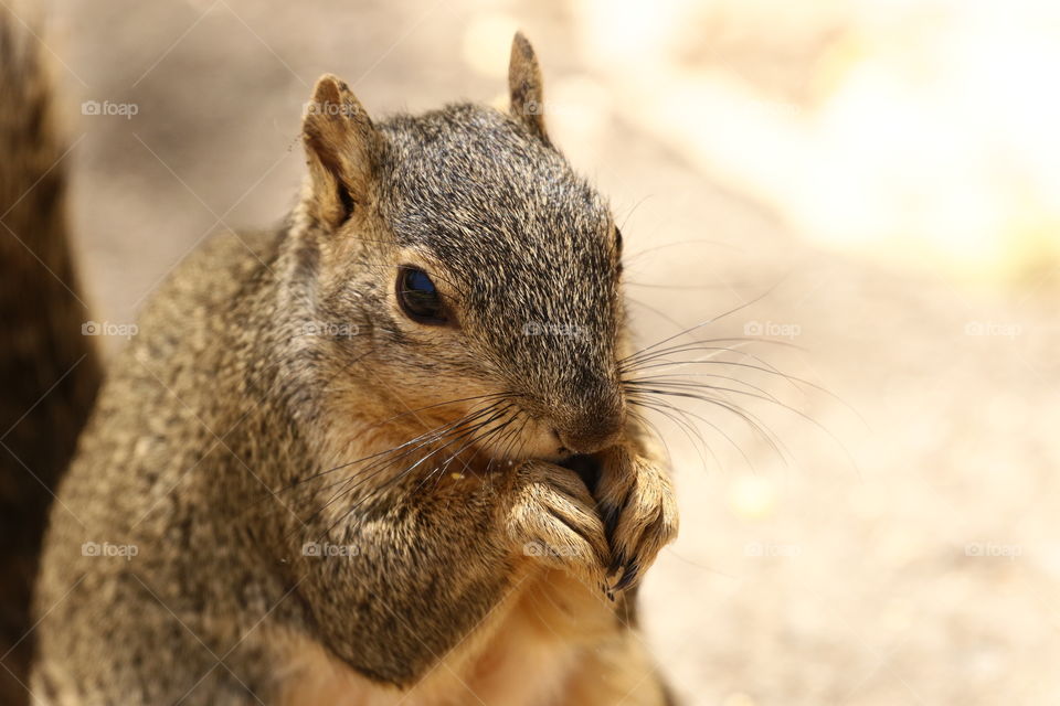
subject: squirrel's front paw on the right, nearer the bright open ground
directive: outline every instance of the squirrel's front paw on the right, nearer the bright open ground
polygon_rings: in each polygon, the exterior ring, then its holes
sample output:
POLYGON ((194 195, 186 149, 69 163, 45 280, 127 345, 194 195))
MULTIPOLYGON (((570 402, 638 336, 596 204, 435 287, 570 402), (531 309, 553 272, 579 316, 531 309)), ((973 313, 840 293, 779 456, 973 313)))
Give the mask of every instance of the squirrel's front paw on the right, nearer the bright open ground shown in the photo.
POLYGON ((677 499, 666 472, 630 449, 617 446, 598 458, 596 496, 612 547, 607 574, 617 575, 614 589, 624 590, 677 537, 677 499))

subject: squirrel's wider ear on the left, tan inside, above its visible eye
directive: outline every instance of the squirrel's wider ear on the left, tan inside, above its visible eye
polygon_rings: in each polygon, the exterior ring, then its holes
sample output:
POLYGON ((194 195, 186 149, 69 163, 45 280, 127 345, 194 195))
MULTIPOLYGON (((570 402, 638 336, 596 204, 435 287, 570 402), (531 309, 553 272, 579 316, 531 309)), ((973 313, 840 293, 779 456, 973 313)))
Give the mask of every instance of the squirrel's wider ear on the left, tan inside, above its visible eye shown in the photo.
POLYGON ((325 74, 306 106, 301 139, 312 181, 312 215, 338 227, 368 197, 379 132, 349 86, 325 74))

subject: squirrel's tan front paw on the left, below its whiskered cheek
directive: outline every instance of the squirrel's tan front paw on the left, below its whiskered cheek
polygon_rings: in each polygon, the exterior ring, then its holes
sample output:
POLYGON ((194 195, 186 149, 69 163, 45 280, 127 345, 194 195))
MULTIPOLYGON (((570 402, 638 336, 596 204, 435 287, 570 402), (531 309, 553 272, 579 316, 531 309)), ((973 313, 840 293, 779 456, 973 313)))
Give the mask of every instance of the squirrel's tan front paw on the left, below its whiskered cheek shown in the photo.
POLYGON ((547 461, 516 469, 515 501, 504 518, 516 550, 607 591, 611 550, 596 501, 574 471, 547 461))

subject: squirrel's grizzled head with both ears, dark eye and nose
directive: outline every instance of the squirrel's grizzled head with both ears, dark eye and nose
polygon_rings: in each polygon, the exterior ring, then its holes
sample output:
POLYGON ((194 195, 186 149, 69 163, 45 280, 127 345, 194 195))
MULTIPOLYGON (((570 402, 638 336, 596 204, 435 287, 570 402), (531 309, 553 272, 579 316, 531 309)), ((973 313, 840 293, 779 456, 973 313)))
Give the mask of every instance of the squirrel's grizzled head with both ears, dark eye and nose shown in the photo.
POLYGON ((357 375, 414 435, 466 417, 465 439, 495 458, 589 453, 626 414, 621 235, 545 132, 521 34, 509 86, 507 114, 373 122, 346 84, 317 83, 301 206, 317 313, 356 332, 329 340, 335 375, 357 375))

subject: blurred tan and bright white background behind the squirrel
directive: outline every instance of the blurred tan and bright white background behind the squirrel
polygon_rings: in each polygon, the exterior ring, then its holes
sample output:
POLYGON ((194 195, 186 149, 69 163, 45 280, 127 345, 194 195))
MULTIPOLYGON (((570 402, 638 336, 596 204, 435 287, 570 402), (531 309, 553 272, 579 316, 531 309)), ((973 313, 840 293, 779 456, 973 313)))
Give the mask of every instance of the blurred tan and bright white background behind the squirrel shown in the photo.
POLYGON ((744 413, 657 420, 683 515, 645 640, 676 691, 1057 703, 1060 6, 44 7, 88 301, 116 324, 209 234, 284 215, 319 74, 377 116, 500 105, 522 28, 554 141, 622 224, 639 340, 765 340, 670 359, 717 363, 674 372, 744 413))

